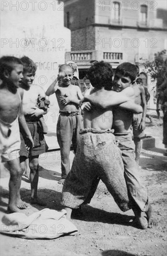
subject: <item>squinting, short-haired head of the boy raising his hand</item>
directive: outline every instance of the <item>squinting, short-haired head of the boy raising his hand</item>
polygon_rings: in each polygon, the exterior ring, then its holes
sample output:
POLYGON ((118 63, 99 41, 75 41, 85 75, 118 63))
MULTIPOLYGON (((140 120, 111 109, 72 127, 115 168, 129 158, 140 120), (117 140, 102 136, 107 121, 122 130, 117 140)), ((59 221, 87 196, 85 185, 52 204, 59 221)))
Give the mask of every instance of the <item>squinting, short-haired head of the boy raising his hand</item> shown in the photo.
POLYGON ((61 65, 58 69, 59 80, 61 80, 62 85, 69 86, 73 77, 73 69, 70 65, 61 65))

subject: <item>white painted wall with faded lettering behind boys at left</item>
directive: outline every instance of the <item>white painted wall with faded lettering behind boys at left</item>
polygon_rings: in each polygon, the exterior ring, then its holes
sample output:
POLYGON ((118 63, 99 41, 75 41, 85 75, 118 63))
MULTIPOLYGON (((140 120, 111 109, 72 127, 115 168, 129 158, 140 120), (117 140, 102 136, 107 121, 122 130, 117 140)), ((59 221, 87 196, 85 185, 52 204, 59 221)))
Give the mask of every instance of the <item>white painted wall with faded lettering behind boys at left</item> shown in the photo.
MULTIPOLYGON (((71 50, 71 31, 64 27, 64 3, 5 0, 0 1, 0 10, 0 56, 31 58, 38 66, 34 83, 46 91, 58 75, 58 65, 65 61, 65 51, 71 50)), ((50 96, 50 101, 50 111, 45 117, 52 135, 47 142, 54 148, 51 143, 57 143, 59 108, 55 95, 50 96)))

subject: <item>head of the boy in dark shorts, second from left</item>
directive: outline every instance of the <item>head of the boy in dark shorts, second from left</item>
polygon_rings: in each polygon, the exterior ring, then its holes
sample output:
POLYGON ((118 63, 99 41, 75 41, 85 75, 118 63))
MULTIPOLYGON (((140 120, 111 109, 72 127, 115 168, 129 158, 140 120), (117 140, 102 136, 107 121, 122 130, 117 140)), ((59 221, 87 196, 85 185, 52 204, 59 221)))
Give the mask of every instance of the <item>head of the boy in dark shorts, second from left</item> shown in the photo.
POLYGON ((27 56, 23 56, 20 59, 23 63, 23 79, 22 88, 29 90, 34 80, 35 72, 37 70, 36 64, 27 56))

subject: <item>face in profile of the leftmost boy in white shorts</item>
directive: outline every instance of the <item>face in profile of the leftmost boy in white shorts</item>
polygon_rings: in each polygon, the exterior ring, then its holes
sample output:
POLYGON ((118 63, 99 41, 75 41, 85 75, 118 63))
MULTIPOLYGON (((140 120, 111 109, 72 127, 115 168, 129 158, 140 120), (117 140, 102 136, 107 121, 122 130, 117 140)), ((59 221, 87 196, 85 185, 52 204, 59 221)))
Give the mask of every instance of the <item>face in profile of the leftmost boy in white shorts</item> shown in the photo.
POLYGON ((13 70, 12 70, 11 74, 8 74, 7 78, 9 78, 13 82, 13 85, 16 88, 19 88, 21 79, 23 78, 23 65, 15 64, 13 66, 13 70))

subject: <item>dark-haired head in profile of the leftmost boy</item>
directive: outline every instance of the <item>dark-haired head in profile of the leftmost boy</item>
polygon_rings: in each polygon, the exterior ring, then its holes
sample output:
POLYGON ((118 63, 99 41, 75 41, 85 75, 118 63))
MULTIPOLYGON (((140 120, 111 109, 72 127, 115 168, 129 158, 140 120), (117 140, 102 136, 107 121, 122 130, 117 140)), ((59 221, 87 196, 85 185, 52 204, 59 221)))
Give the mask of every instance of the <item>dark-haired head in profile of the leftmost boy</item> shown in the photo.
POLYGON ((2 86, 8 88, 19 88, 23 77, 23 64, 19 58, 14 56, 3 56, 0 58, 0 79, 2 86))

